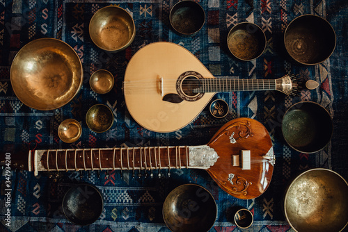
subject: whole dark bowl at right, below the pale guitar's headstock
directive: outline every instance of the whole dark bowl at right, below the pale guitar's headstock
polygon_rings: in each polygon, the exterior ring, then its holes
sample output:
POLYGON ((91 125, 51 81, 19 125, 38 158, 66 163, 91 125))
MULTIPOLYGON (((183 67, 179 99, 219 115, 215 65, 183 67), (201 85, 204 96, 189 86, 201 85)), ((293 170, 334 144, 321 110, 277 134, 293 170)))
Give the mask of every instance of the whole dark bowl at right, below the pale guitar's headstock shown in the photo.
POLYGON ((285 113, 282 132, 287 144, 296 151, 315 153, 329 144, 333 122, 329 112, 318 103, 301 101, 285 113))

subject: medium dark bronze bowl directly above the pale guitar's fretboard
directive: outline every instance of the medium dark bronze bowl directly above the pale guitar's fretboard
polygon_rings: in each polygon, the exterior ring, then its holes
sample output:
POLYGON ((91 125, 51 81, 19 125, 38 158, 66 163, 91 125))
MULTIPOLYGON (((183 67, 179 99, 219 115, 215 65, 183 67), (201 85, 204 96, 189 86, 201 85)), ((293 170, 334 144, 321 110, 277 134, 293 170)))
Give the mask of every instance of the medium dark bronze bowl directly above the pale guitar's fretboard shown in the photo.
POLYGON ((228 49, 239 60, 255 60, 264 53, 266 35, 256 24, 242 22, 230 29, 227 36, 228 49))

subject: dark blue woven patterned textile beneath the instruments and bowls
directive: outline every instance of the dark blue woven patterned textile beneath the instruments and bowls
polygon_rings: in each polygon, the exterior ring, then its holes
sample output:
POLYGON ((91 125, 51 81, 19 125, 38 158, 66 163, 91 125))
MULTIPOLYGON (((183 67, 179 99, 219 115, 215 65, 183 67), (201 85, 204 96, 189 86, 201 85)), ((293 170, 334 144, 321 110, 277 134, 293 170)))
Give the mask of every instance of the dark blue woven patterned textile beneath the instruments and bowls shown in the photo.
MULTIPOLYGON (((0 0, 0 149, 14 154, 19 150, 198 145, 230 119, 249 117, 266 126, 274 143, 276 165, 268 190, 252 200, 231 197, 212 183, 203 170, 176 169, 170 178, 132 177, 132 172, 67 172, 55 181, 48 176, 26 171, 11 172, 11 224, 4 221, 5 174, 0 176, 0 231, 169 231, 161 215, 166 195, 184 183, 198 183, 216 200, 219 213, 211 231, 239 231, 232 223, 231 210, 243 206, 254 214, 253 225, 244 231, 293 231, 283 215, 283 194, 289 181, 305 169, 325 167, 348 179, 348 80, 347 38, 348 2, 345 0, 200 0, 206 21, 193 37, 182 37, 169 26, 168 15, 177 1, 70 1, 70 0, 0 0), (90 40, 90 18, 110 4, 132 14, 136 38, 119 53, 98 49, 90 40), (303 66, 287 58, 283 49, 283 32, 299 15, 314 14, 326 18, 333 26, 337 44, 329 60, 303 66), (226 38, 239 22, 258 24, 267 37, 267 49, 260 58, 246 62, 228 51, 226 38), (10 65, 15 54, 28 42, 38 38, 57 38, 70 44, 81 58, 84 84, 70 103, 56 110, 40 111, 25 106, 15 96, 10 83, 10 65), (203 110, 188 126, 173 133, 154 133, 136 124, 127 113, 122 95, 122 81, 129 59, 141 47, 157 41, 180 44, 193 53, 216 77, 279 78, 299 74, 302 81, 315 80, 316 90, 302 90, 299 97, 280 92, 230 92, 216 94, 230 106, 228 116, 216 119, 203 110), (89 77, 97 69, 107 69, 115 76, 115 86, 108 94, 90 90, 89 77), (329 145, 315 154, 301 154, 285 144, 280 124, 293 103, 315 101, 329 110, 334 133, 329 145), (90 106, 104 103, 114 115, 113 127, 106 133, 93 133, 86 126, 90 106), (59 140, 58 125, 67 118, 77 119, 81 138, 72 144, 59 140), (61 210, 64 193, 72 185, 88 182, 104 196, 100 219, 90 226, 76 226, 65 219, 61 210)), ((157 171, 156 171, 157 172, 157 171)))

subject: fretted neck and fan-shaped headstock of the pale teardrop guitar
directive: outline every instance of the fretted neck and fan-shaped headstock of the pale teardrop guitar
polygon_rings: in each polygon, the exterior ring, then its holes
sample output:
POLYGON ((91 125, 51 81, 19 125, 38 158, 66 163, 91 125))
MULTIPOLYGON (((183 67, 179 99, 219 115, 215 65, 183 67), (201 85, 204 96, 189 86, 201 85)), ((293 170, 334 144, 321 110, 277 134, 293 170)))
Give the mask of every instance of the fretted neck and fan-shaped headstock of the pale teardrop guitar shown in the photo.
POLYGON ((199 88, 193 92, 234 92, 278 90, 287 95, 296 94, 299 87, 295 75, 285 75, 278 79, 238 79, 230 77, 203 78, 199 88))

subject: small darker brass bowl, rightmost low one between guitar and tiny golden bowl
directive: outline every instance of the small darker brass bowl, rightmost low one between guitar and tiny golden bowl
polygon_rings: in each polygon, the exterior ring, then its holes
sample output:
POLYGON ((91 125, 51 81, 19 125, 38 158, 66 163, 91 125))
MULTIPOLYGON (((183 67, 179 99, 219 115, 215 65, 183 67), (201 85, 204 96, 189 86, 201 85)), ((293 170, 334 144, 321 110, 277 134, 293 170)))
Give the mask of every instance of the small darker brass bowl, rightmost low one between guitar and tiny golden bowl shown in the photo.
POLYGON ((96 104, 87 111, 86 124, 89 129, 97 133, 108 131, 113 124, 113 113, 109 107, 96 104))

